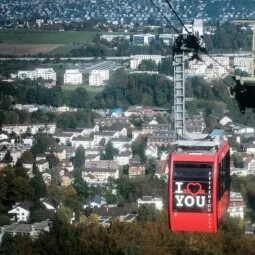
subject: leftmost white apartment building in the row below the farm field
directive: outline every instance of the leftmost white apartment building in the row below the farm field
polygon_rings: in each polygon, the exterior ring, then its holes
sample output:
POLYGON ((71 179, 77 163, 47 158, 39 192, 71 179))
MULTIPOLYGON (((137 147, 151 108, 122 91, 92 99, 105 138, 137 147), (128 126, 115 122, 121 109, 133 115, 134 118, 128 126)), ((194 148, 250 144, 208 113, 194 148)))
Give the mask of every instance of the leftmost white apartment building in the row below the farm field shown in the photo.
POLYGON ((56 72, 53 68, 36 68, 35 70, 18 71, 18 79, 43 79, 43 80, 57 80, 56 72))

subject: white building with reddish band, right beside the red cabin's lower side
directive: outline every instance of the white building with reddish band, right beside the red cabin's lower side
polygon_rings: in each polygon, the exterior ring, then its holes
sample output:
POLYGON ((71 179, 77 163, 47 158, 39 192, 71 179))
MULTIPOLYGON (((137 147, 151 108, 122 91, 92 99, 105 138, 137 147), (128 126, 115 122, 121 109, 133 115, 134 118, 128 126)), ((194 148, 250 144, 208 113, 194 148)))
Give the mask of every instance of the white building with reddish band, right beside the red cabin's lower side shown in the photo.
POLYGON ((241 193, 230 192, 230 201, 228 207, 228 213, 231 217, 244 218, 244 201, 241 193))

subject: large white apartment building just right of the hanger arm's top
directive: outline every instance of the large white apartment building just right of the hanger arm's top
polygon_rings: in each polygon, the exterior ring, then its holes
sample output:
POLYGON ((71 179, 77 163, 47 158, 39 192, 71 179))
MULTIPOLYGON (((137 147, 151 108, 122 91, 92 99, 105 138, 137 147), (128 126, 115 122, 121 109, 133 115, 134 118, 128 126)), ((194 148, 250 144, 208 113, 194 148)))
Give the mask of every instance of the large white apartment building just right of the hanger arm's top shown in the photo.
POLYGON ((200 56, 202 61, 189 61, 189 68, 186 70, 187 76, 203 76, 207 79, 219 79, 228 74, 229 57, 207 55, 200 56), (218 63, 220 64, 218 64, 218 63))

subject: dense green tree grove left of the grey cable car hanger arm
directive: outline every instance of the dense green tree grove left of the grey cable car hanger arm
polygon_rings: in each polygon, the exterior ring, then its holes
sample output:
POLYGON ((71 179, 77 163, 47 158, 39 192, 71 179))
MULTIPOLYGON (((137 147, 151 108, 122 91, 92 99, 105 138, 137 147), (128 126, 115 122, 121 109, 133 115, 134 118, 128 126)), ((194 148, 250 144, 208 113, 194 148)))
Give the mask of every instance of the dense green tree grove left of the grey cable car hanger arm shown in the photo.
POLYGON ((103 108, 129 105, 171 107, 173 83, 165 75, 129 74, 119 70, 96 96, 96 101, 98 107, 103 108))

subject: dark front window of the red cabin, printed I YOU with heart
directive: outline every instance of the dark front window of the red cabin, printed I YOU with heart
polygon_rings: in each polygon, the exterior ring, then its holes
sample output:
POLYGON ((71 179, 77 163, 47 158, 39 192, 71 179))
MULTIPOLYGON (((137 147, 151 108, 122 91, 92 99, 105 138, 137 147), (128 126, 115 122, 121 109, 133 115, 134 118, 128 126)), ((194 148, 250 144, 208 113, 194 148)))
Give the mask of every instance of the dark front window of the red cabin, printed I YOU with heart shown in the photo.
POLYGON ((174 212, 212 212, 212 164, 175 163, 174 212))

